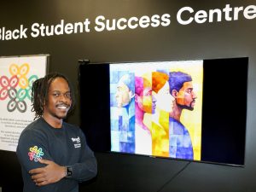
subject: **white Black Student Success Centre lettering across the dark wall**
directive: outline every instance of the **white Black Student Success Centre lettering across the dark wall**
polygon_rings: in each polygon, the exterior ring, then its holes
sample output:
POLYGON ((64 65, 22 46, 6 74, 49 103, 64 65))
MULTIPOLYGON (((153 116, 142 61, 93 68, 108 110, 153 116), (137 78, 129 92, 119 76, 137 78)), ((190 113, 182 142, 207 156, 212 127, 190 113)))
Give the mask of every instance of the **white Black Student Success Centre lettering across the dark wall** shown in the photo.
POLYGON ((9 26, 0 26, 0 41, 9 41, 24 38, 39 38, 59 35, 69 35, 88 32, 111 32, 134 30, 148 27, 172 26, 172 22, 187 26, 191 23, 206 24, 214 22, 227 22, 236 20, 254 20, 256 18, 256 5, 233 7, 226 4, 222 8, 195 9, 183 7, 177 10, 176 14, 166 13, 163 15, 141 15, 130 16, 128 18, 118 17, 109 19, 104 15, 98 15, 95 19, 84 18, 73 23, 67 20, 60 20, 57 24, 47 25, 45 23, 34 22, 32 26, 21 24, 15 29, 9 26))

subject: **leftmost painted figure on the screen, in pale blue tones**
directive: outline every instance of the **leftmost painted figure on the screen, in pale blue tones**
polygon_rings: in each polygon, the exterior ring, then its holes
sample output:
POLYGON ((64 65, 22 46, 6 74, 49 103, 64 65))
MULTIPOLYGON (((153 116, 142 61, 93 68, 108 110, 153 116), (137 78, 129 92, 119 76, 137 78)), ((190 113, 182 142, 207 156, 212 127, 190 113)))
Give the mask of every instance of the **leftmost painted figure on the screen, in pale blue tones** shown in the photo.
POLYGON ((135 153, 134 78, 134 73, 123 75, 115 94, 119 115, 119 151, 131 154, 135 153))

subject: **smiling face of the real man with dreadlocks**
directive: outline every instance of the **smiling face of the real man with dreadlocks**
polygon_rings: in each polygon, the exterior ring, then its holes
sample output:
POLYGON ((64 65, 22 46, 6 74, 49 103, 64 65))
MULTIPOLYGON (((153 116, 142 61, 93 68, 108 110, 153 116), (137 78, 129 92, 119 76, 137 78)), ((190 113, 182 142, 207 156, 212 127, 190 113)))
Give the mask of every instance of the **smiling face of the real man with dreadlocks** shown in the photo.
POLYGON ((67 81, 62 78, 54 79, 49 85, 48 102, 44 105, 44 115, 64 119, 71 104, 71 92, 67 81))

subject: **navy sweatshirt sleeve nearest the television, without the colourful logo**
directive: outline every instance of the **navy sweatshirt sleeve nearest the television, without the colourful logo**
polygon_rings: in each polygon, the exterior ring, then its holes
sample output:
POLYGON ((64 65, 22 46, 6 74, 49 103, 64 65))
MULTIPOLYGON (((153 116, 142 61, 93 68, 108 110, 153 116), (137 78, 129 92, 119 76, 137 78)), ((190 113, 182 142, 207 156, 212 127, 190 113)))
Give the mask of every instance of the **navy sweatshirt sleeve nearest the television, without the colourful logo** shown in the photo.
POLYGON ((73 179, 84 182, 88 181, 97 174, 97 162, 93 151, 90 149, 86 143, 84 132, 79 129, 79 135, 81 136, 81 154, 79 162, 74 165, 69 165, 73 169, 72 177, 73 179))

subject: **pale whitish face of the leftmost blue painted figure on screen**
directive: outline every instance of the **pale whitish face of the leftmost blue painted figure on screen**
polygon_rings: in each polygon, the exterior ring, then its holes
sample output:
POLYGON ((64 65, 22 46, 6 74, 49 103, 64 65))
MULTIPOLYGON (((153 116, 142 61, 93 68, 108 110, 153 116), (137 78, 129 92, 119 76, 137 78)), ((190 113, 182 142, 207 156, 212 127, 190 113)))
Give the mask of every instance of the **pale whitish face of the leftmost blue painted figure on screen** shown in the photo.
POLYGON ((125 107, 131 101, 130 90, 124 83, 119 83, 115 94, 118 108, 125 107))

